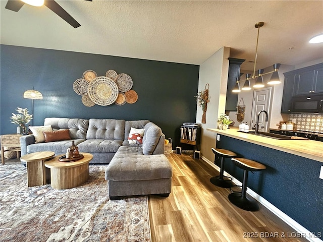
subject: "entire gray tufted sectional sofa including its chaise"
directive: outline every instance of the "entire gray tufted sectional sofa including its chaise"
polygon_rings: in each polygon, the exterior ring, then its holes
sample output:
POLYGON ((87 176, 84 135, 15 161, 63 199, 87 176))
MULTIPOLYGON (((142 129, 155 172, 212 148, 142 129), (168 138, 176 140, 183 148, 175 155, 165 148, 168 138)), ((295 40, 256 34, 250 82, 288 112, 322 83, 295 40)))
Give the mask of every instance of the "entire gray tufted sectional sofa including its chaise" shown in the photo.
POLYGON ((44 127, 48 126, 53 131, 69 130, 71 139, 40 142, 35 132, 36 142, 34 135, 22 136, 21 155, 38 151, 65 154, 74 141, 80 153, 93 155, 90 164, 109 164, 105 179, 111 200, 149 194, 168 197, 171 193, 172 166, 164 155, 165 135, 149 120, 48 117, 44 127), (130 144, 131 128, 144 130, 142 144, 130 144))

